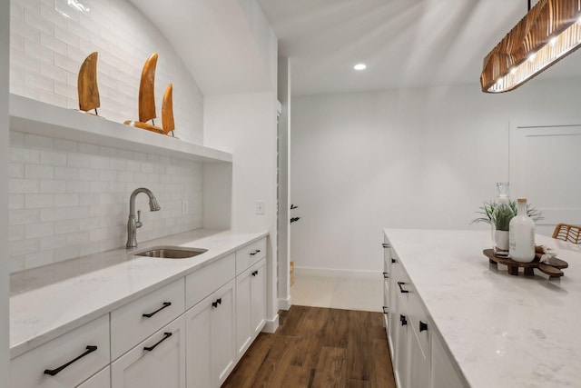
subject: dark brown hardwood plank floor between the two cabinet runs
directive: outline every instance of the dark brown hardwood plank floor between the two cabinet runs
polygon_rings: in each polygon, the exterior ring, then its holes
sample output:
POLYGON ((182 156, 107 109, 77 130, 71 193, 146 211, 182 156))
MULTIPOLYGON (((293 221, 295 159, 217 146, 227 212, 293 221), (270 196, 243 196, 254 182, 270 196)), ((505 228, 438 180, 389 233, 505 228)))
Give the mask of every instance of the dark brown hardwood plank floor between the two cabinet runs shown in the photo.
POLYGON ((382 313, 292 306, 222 388, 395 388, 382 313))

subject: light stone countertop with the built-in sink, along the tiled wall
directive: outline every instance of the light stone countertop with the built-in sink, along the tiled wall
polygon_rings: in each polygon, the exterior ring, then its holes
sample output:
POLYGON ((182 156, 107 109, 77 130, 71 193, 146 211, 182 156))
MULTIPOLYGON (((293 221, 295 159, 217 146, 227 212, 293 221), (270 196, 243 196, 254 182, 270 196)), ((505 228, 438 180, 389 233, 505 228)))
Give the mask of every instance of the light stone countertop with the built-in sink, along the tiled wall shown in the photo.
POLYGON ((59 335, 186 274, 212 264, 267 232, 195 230, 11 275, 10 356, 59 335), (155 245, 208 249, 189 259, 134 256, 155 245))

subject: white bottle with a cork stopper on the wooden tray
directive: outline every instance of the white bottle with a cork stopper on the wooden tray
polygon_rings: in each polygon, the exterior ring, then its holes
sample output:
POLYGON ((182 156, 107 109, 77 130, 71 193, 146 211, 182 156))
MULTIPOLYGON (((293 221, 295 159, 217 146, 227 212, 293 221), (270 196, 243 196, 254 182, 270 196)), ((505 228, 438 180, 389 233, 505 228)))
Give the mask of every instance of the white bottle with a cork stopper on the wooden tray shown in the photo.
POLYGON ((535 222, 527 214, 527 199, 518 198, 517 215, 509 224, 510 258, 519 263, 535 260, 535 222))

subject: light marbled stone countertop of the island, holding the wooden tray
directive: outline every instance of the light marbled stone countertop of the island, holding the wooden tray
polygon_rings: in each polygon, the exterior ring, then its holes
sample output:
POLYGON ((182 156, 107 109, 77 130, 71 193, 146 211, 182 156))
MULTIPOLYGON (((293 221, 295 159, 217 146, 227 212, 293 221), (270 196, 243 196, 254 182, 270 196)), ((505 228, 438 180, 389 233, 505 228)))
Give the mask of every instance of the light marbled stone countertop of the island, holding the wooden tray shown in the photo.
POLYGON ((569 264, 549 280, 488 264, 489 232, 384 232, 471 387, 581 386, 581 245, 537 235, 569 264))

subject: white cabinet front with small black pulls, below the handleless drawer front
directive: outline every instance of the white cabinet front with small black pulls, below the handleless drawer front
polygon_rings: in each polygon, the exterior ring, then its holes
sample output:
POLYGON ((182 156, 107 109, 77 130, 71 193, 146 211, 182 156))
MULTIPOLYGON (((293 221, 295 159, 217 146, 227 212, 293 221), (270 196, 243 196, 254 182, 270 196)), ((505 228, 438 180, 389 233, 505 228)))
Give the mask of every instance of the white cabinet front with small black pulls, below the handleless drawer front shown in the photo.
POLYGON ((219 387, 234 367, 234 286, 231 280, 185 313, 189 388, 219 387))

